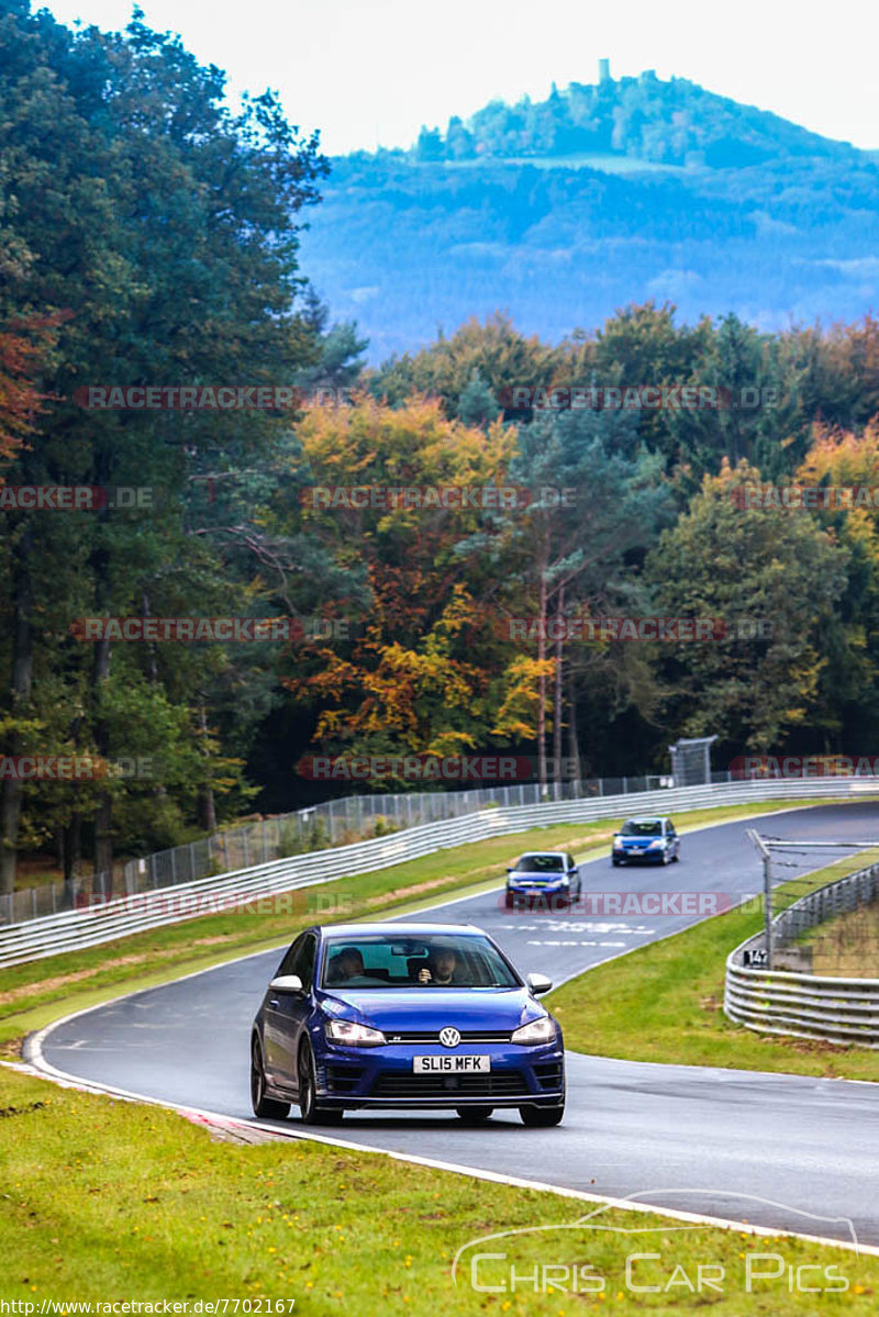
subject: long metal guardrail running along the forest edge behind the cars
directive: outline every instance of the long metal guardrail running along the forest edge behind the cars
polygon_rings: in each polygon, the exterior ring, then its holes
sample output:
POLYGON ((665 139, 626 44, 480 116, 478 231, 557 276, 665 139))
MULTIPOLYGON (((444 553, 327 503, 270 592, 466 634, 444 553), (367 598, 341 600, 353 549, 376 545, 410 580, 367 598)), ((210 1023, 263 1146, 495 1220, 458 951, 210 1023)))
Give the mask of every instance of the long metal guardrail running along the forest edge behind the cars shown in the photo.
MULTIPOLYGON (((669 814, 681 809, 702 809, 717 805, 752 803, 759 801, 807 798, 839 798, 847 794, 879 792, 879 778, 730 782, 717 786, 666 788, 642 792, 637 799, 637 813, 660 811, 669 814)), ((415 860, 434 851, 481 842, 507 832, 522 832, 530 827, 553 823, 586 823, 602 818, 618 818, 633 813, 631 795, 594 797, 576 801, 551 801, 546 805, 527 805, 514 809, 485 809, 463 818, 445 819, 407 828, 385 838, 356 842, 331 851, 290 856, 270 864, 258 864, 220 877, 199 878, 158 892, 144 892, 120 897, 84 910, 30 919, 0 930, 0 967, 16 965, 26 960, 55 956, 65 951, 79 951, 103 942, 112 942, 130 932, 179 923, 198 914, 227 907, 244 898, 273 896, 332 882, 372 869, 385 869, 405 860, 415 860)))

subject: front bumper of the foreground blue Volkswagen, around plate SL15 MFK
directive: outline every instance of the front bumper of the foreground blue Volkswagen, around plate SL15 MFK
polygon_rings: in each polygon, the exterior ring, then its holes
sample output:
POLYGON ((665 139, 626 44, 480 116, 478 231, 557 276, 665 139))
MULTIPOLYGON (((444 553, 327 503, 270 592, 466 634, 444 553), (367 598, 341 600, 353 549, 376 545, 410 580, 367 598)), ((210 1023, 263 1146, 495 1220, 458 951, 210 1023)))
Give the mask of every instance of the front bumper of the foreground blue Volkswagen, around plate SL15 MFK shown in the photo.
POLYGON ((564 1101, 564 1047, 514 1043, 455 1048, 456 1056, 490 1056, 492 1069, 461 1075, 415 1075, 414 1056, 448 1056, 431 1043, 386 1047, 327 1044, 316 1056, 318 1100, 322 1106, 423 1108, 557 1106, 564 1101))

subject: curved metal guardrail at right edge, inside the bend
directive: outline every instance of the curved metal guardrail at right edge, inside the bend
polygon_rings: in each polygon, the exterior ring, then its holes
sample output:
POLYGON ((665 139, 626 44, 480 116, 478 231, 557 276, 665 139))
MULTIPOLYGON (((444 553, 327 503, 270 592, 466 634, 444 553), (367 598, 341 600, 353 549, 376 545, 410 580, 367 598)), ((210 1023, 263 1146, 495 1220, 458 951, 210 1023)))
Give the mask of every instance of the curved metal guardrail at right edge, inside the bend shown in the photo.
MULTIPOLYGON (((772 921, 774 943, 791 942, 824 919, 855 910, 879 894, 879 865, 872 864, 801 897, 772 921)), ((763 946, 749 938, 726 959, 723 1011, 759 1034, 820 1038, 879 1048, 879 979, 830 979, 787 969, 751 969, 745 951, 763 946)))

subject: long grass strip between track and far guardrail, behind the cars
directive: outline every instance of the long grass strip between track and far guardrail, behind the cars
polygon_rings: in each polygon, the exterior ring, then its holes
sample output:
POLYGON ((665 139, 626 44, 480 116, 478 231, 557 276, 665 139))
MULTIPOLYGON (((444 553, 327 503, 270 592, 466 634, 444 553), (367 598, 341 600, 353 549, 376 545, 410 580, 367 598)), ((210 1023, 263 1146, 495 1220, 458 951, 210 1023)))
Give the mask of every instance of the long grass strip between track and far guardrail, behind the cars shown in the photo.
MULTIPOLYGON (((637 801, 637 797, 633 797, 637 801)), ((809 801, 734 805, 676 815, 681 831, 737 818, 774 813, 809 801)), ((635 806, 633 806, 635 807, 635 806)), ((619 819, 531 828, 488 842, 438 851, 389 869, 340 878, 287 894, 287 909, 273 902, 253 913, 228 911, 132 934, 117 942, 71 951, 0 971, 0 1051, 12 1055, 18 1040, 58 1015, 99 1005, 120 992, 153 988, 235 956, 269 951, 319 919, 364 919, 418 913, 449 896, 489 890, 503 878, 510 857, 527 848, 565 848, 579 860, 606 853, 619 819), (406 903, 401 903, 406 902, 406 903)))

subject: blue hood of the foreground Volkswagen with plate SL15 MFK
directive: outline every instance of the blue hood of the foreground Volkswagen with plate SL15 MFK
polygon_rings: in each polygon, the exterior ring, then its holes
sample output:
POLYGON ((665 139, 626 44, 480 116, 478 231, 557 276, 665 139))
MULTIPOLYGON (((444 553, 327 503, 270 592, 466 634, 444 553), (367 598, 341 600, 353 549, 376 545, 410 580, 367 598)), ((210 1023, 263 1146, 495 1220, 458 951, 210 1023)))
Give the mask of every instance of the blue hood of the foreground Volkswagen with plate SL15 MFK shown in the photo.
POLYGON ((323 1009, 340 1019, 357 1019, 381 1030, 456 1029, 510 1030, 546 1014, 527 988, 333 988, 322 994, 323 1009))

